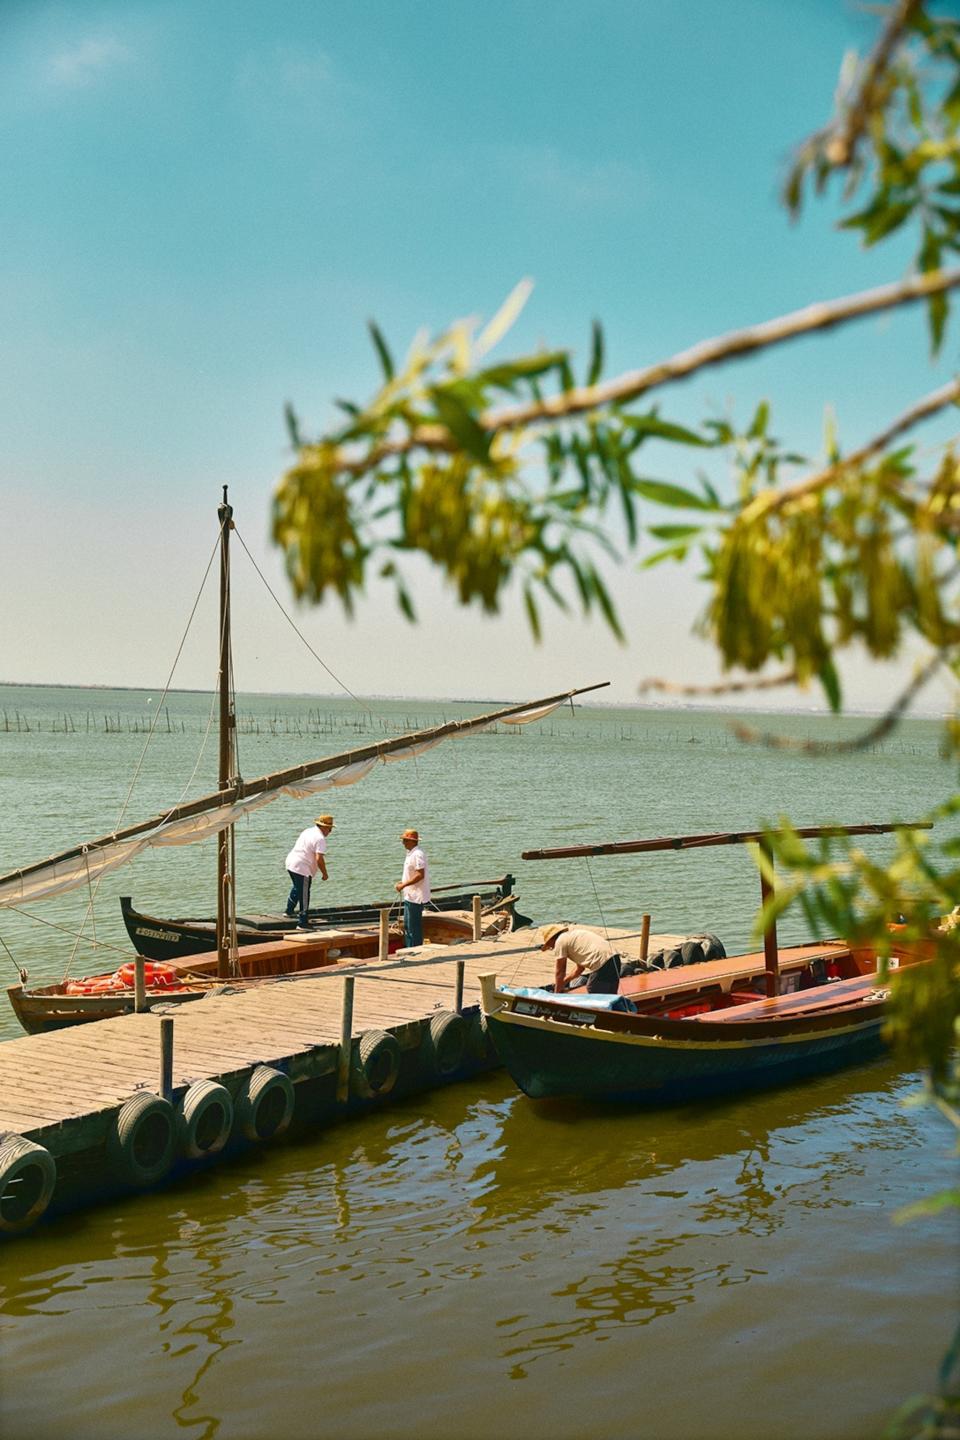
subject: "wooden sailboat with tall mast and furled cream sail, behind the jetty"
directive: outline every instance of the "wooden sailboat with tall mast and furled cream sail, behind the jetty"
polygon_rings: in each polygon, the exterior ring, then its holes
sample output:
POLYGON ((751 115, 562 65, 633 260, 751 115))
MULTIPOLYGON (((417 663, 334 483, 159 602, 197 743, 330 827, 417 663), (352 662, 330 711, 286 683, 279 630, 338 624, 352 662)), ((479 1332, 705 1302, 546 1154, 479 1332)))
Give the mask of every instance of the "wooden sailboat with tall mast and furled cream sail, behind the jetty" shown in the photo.
MULTIPOLYGON (((230 685, 230 570, 229 539, 233 527, 233 510, 227 504, 223 488, 223 503, 219 507, 220 520, 220 665, 219 665, 219 788, 212 795, 183 805, 176 805, 161 815, 127 825, 109 835, 102 835, 85 844, 75 845, 47 860, 0 876, 0 910, 4 906, 23 906, 27 901, 66 890, 88 886, 108 871, 128 863, 147 845, 191 844, 212 834, 217 837, 217 914, 216 923, 203 922, 206 930, 206 953, 186 953, 186 960, 174 963, 151 962, 142 969, 142 995, 138 995, 137 973, 128 973, 128 966, 119 966, 109 975, 79 976, 63 979, 58 985, 30 986, 23 978, 20 985, 9 986, 7 995, 20 1022, 26 1030, 49 1030, 60 1025, 99 1020, 105 1015, 122 1014, 151 1001, 176 1002, 199 998, 209 992, 212 982, 225 984, 256 982, 268 976, 298 973, 320 965, 335 963, 337 959, 364 959, 380 953, 381 937, 379 916, 384 906, 357 907, 363 919, 350 919, 334 912, 321 912, 324 923, 317 932, 286 936, 286 926, 278 923, 273 932, 249 932, 256 927, 237 922, 235 886, 230 857, 233 852, 233 825, 243 815, 276 799, 281 793, 307 796, 330 785, 351 785, 363 779, 380 762, 406 759, 420 755, 439 742, 468 734, 497 721, 527 723, 541 719, 560 704, 570 701, 590 685, 569 690, 558 696, 525 704, 507 706, 476 716, 471 720, 446 721, 391 740, 363 746, 341 755, 325 756, 292 766, 272 775, 243 780, 236 773, 235 732, 230 685), (332 923, 331 923, 332 922, 332 923), (376 922, 376 923, 374 923, 376 922), (240 939, 239 930, 245 930, 240 939), (214 945, 214 949, 210 946, 214 945)), ((505 877, 507 880, 510 877, 505 877)), ((505 888, 505 883, 504 883, 505 888)), ((474 917, 463 910, 472 909, 478 890, 458 893, 453 899, 465 901, 463 909, 442 909, 425 914, 425 940, 429 943, 452 943, 474 935, 474 917)), ((482 893, 482 891, 481 891, 482 893)), ((491 929, 510 927, 517 923, 512 909, 515 896, 486 896, 488 914, 485 933, 491 929)), ((269 922, 271 917, 262 917, 269 922)), ((278 917, 279 922, 279 917, 278 917)), ((155 929, 173 930, 173 922, 157 920, 155 929)), ((484 933, 484 932, 482 932, 484 933)), ((135 936, 148 939, 144 936, 135 936)), ((142 946, 138 943, 142 965, 142 946)), ((134 968, 135 969, 135 968, 134 968)))

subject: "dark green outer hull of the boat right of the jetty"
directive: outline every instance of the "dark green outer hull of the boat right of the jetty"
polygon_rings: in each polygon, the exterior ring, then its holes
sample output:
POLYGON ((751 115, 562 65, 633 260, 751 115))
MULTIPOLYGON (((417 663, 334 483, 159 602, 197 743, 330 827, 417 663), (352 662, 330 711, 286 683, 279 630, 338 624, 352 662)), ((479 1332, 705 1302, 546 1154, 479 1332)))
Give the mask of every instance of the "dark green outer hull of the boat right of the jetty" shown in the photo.
MULTIPOLYGON (((877 1007, 874 1007, 877 1008, 877 1007)), ((793 1084, 884 1053, 882 1014, 753 1040, 664 1040, 488 1015, 497 1053, 525 1094, 674 1104, 793 1084)))

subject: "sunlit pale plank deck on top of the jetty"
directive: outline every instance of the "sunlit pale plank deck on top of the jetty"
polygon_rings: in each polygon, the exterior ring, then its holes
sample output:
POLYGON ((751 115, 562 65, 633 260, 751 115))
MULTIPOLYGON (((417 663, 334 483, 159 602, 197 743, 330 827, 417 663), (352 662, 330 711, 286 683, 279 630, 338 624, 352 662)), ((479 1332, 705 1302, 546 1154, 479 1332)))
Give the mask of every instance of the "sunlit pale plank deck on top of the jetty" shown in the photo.
MULTIPOLYGON (((639 930, 610 929, 626 958, 639 955, 639 930)), ((651 936, 651 949, 682 936, 651 936)), ((455 1008, 458 960, 463 960, 463 1008, 479 1004, 479 979, 541 985, 553 958, 537 930, 423 946, 389 960, 343 963, 317 972, 222 991, 141 1015, 73 1025, 0 1044, 0 1132, 27 1136, 50 1153, 102 1142, 108 1120, 137 1090, 160 1090, 160 1015, 174 1017, 174 1090, 196 1080, 236 1081, 256 1066, 275 1066, 298 1080, 330 1074, 341 1038, 343 979, 356 976, 353 1035, 393 1032, 400 1047, 420 1043, 436 1011, 455 1008)))

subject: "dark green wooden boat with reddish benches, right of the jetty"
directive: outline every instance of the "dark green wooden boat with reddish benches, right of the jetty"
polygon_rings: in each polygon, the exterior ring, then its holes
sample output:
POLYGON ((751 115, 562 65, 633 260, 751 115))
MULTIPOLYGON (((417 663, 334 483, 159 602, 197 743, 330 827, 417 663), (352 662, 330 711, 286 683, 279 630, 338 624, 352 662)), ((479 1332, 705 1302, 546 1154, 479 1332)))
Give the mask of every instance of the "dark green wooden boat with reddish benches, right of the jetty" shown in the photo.
MULTIPOLYGON (((898 828, 928 827, 816 827, 797 834, 874 835, 898 828)), ((524 858, 744 841, 769 845, 763 831, 751 831, 525 851, 524 858)), ((761 887, 766 899, 766 880, 761 887)), ((492 975, 481 985, 497 1053, 527 1094, 664 1104, 786 1084, 879 1054, 885 1002, 898 971, 930 955, 930 945, 907 945, 895 933, 887 959, 842 940, 780 950, 770 923, 763 952, 632 976, 616 995, 498 988, 492 975)))

